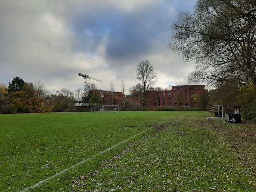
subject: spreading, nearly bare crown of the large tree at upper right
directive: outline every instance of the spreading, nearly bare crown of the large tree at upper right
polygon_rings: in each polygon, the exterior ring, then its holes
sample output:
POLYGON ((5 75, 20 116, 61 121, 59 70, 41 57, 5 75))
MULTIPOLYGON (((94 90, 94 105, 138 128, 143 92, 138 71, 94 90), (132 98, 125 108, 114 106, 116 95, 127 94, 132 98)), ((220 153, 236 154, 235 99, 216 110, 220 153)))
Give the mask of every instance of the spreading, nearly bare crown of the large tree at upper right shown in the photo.
POLYGON ((256 84, 255 10, 255 0, 198 0, 193 14, 179 14, 169 48, 196 61, 189 81, 256 84))

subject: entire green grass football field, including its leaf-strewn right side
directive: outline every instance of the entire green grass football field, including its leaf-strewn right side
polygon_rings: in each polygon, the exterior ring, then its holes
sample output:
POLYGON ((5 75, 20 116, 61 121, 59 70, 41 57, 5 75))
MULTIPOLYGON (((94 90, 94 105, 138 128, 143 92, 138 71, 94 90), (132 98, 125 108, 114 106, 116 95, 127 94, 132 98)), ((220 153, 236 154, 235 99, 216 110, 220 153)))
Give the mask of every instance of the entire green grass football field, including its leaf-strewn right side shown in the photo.
POLYGON ((255 124, 209 122, 206 115, 0 115, 0 190, 254 191, 255 142, 240 145, 228 133, 255 133, 255 124))

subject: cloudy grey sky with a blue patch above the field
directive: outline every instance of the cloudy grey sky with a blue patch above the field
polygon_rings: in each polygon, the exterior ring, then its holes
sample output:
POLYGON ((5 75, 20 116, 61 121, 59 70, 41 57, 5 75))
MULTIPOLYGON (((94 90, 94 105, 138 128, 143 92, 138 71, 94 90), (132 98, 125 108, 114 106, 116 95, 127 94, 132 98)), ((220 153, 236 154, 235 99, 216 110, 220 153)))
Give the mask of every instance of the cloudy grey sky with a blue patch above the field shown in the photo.
POLYGON ((148 60, 155 87, 188 84, 192 63, 177 58, 168 43, 179 11, 195 0, 1 0, 0 83, 16 76, 38 79, 51 91, 83 88, 120 91, 137 84, 136 68, 148 60))

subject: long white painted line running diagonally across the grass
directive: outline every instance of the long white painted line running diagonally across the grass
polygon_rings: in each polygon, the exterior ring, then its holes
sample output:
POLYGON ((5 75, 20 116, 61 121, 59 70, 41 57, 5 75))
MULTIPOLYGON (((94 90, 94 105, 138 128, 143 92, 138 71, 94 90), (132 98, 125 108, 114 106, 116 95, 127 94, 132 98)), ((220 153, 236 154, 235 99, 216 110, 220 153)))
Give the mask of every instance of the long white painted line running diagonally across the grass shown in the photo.
MULTIPOLYGON (((185 112, 182 112, 182 113, 185 113, 185 112)), ((182 114, 182 113, 180 113, 180 114, 182 114)), ((180 115, 180 114, 177 114, 177 115, 175 115, 175 116, 178 116, 178 115, 180 115)), ((172 119, 172 118, 174 118, 175 116, 172 116, 172 117, 170 117, 169 119, 172 119)), ((166 120, 164 120, 163 122, 166 122, 166 121, 168 121, 169 119, 166 119, 166 120)), ((163 122, 160 122, 160 123, 157 124, 157 125, 160 125, 160 124, 162 124, 163 122)), ((88 160, 91 160, 92 158, 97 157, 97 156, 99 156, 99 155, 101 155, 101 154, 103 154, 103 153, 105 153, 105 152, 111 150, 112 148, 114 148, 114 147, 116 147, 116 146, 118 146, 118 145, 120 145, 120 144, 122 144, 122 143, 125 143, 126 141, 131 140, 132 138, 134 138, 134 137, 136 137, 136 136, 138 136, 138 135, 140 135, 140 134, 143 134, 145 131, 148 131, 149 129, 151 129, 151 128, 157 126, 157 125, 154 125, 154 126, 148 128, 148 129, 146 129, 146 130, 144 130, 144 131, 142 131, 142 132, 140 132, 140 133, 138 133, 138 134, 136 134, 136 135, 134 135, 134 136, 128 138, 127 140, 124 140, 124 141, 122 141, 122 142, 120 142, 120 143, 118 143, 118 144, 116 144, 116 145, 113 145, 111 148, 108 148, 108 149, 106 149, 106 150, 104 150, 104 151, 102 151, 102 152, 100 152, 100 153, 98 153, 98 154, 96 154, 96 155, 93 155, 92 157, 90 157, 90 158, 88 158, 88 159, 86 159, 86 160, 83 160, 83 161, 77 163, 76 165, 73 165, 73 166, 71 166, 71 167, 69 167, 69 168, 67 168, 67 169, 64 169, 64 170, 62 170, 61 172, 56 173, 55 175, 53 175, 53 176, 51 176, 51 177, 47 177, 46 179, 41 180, 40 182, 36 183, 35 185, 32 185, 32 186, 27 187, 26 189, 24 189, 24 190, 21 191, 21 192, 26 192, 26 191, 28 191, 29 189, 33 189, 33 188, 35 188, 35 187, 37 187, 37 186, 40 186, 42 183, 45 183, 45 182, 47 182, 48 180, 51 180, 52 178, 57 177, 57 176, 63 174, 64 172, 67 172, 67 171, 69 171, 70 169, 72 169, 72 168, 74 168, 74 167, 76 167, 76 166, 79 166, 79 165, 81 165, 81 164, 87 162, 88 160)))

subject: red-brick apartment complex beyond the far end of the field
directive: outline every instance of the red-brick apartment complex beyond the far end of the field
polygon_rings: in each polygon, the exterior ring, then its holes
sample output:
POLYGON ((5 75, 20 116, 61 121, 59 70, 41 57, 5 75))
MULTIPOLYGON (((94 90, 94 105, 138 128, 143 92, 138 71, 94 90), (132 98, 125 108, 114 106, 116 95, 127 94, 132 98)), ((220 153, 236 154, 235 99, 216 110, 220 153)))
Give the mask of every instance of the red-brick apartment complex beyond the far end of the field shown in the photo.
MULTIPOLYGON (((193 100, 192 95, 208 92, 204 85, 177 85, 172 90, 150 91, 146 107, 200 107, 199 103, 193 100)), ((126 107, 140 106, 139 95, 127 95, 122 92, 111 92, 107 90, 96 90, 102 96, 103 105, 123 105, 125 99, 126 107)))

